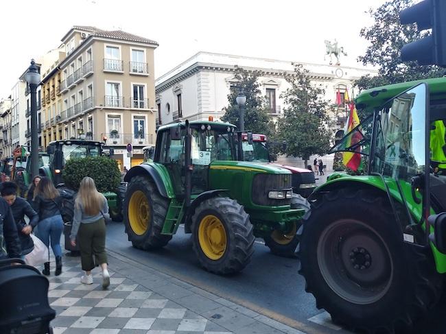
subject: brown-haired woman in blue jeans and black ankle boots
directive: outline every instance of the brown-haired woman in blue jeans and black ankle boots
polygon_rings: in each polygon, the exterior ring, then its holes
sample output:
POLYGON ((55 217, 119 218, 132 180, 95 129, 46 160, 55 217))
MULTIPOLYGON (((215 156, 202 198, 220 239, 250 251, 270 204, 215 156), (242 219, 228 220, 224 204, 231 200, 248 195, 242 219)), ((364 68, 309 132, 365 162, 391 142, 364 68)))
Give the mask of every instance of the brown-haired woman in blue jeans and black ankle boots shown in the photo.
MULTIPOLYGON (((54 187, 49 178, 41 178, 34 190, 33 208, 38 213, 39 222, 31 224, 32 228, 38 226, 36 237, 45 246, 51 248, 56 257, 56 276, 62 273, 62 248, 60 247, 60 235, 64 229, 64 222, 60 215, 59 208, 62 206, 62 198, 59 191, 54 187)), ((49 259, 45 262, 42 274, 49 275, 49 259)))

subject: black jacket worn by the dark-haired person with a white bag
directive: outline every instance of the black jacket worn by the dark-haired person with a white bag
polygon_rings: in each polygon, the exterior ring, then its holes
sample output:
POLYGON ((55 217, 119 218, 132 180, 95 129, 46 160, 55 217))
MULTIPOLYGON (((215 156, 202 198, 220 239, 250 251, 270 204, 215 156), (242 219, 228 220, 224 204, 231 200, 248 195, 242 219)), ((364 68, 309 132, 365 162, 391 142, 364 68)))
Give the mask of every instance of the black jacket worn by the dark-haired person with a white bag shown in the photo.
POLYGON ((22 229, 27 225, 25 222, 25 215, 30 218, 30 225, 35 226, 38 223, 38 215, 24 198, 17 197, 11 206, 12 215, 17 226, 17 233, 19 233, 19 240, 22 248, 22 255, 26 255, 34 249, 34 242, 30 235, 25 235, 22 229))

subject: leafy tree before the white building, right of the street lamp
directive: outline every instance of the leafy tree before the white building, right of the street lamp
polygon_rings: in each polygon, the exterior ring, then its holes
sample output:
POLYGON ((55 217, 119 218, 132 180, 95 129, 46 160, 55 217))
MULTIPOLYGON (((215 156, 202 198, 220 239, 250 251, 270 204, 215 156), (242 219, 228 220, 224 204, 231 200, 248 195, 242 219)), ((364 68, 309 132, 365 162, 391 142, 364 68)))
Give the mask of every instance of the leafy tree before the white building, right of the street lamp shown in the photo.
POLYGON ((329 102, 324 99, 325 89, 313 84, 309 71, 301 64, 293 64, 294 73, 285 78, 291 87, 282 94, 285 108, 279 119, 279 138, 287 143, 283 153, 305 160, 314 154, 326 154, 331 133, 327 128, 329 102))

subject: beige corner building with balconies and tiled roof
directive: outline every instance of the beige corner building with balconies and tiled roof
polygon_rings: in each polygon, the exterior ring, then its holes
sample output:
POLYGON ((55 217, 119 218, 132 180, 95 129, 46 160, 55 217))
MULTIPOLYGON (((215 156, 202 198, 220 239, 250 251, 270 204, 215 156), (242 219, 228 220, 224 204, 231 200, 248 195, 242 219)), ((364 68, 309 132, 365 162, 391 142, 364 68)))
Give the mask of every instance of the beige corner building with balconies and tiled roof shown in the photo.
POLYGON ((74 26, 62 43, 64 55, 43 77, 45 144, 79 137, 105 141, 121 168, 141 163, 142 148, 155 140, 158 43, 89 26, 74 26))

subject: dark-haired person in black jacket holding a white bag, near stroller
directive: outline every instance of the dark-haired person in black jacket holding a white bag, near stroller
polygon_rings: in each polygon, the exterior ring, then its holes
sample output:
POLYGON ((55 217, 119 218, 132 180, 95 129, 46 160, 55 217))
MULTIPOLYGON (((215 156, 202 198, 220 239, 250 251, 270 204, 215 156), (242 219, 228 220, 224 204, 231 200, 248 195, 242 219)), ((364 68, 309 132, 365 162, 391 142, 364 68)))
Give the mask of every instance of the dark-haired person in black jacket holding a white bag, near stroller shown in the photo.
POLYGON ((17 233, 19 235, 20 246, 22 249, 22 259, 26 254, 30 254, 34 249, 34 242, 30 237, 32 225, 37 224, 38 215, 24 198, 17 197, 17 186, 14 182, 4 182, 1 188, 1 197, 5 200, 12 211, 12 217, 16 224, 17 233), (30 224, 26 224, 25 216, 30 219, 30 224))

